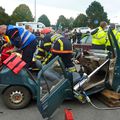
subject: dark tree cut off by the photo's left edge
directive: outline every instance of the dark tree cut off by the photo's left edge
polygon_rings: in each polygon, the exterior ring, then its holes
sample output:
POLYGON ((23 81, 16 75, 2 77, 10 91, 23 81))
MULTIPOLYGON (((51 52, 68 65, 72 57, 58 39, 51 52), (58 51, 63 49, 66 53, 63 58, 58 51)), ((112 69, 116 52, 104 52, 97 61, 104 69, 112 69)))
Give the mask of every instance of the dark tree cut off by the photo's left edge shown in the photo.
POLYGON ((0 7, 0 25, 6 24, 8 25, 10 23, 10 16, 5 13, 5 9, 0 7))

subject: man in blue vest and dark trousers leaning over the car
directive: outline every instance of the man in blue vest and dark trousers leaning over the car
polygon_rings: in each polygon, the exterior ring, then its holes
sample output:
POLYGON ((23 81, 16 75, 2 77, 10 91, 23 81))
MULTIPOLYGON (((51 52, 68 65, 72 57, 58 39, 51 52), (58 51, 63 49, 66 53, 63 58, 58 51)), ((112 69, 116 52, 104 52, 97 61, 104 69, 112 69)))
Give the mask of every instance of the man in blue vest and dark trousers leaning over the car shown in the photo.
POLYGON ((37 40, 35 35, 23 27, 13 25, 1 25, 0 34, 7 35, 11 44, 14 45, 14 49, 8 51, 9 53, 22 51, 22 59, 27 63, 26 67, 28 68, 36 50, 37 40))

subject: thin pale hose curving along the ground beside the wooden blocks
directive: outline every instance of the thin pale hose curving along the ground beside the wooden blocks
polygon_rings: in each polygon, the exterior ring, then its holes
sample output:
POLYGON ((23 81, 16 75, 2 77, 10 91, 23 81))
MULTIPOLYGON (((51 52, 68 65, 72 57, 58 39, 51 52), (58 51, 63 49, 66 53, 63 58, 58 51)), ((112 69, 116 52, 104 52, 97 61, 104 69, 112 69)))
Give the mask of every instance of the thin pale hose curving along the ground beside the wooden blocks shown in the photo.
POLYGON ((88 103, 90 103, 95 109, 98 109, 98 110, 116 110, 116 109, 120 109, 120 107, 112 107, 112 108, 100 108, 100 107, 97 107, 90 99, 90 97, 83 91, 83 94, 85 95, 86 97, 86 100, 88 103))

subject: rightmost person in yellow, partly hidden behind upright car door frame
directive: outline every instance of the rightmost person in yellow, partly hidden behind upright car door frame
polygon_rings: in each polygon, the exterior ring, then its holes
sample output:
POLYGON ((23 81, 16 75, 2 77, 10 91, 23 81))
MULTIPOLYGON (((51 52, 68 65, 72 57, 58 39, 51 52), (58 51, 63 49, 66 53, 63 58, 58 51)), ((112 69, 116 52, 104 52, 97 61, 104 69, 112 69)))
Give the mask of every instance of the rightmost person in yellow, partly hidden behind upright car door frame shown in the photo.
MULTIPOLYGON (((112 32, 113 34, 115 35, 115 38, 119 44, 119 39, 120 39, 120 33, 115 29, 115 24, 114 23, 111 23, 110 24, 110 28, 112 29, 112 32)), ((111 51, 111 44, 110 44, 110 41, 107 39, 107 43, 106 43, 106 48, 107 50, 111 51)))

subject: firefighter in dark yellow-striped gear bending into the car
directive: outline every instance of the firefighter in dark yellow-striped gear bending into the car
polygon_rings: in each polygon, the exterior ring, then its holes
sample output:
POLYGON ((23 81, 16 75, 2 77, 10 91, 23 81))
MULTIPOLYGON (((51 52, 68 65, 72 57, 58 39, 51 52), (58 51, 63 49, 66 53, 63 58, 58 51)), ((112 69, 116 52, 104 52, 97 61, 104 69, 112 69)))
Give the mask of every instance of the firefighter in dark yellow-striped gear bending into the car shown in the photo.
POLYGON ((42 59, 42 64, 45 65, 50 62, 54 57, 59 55, 65 65, 65 67, 70 72, 75 72, 76 68, 72 63, 72 44, 71 42, 64 38, 61 34, 48 33, 43 38, 41 45, 37 48, 37 54, 35 58, 37 60, 42 59))

